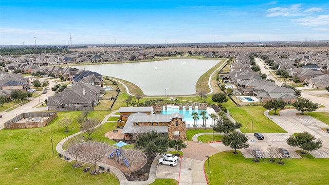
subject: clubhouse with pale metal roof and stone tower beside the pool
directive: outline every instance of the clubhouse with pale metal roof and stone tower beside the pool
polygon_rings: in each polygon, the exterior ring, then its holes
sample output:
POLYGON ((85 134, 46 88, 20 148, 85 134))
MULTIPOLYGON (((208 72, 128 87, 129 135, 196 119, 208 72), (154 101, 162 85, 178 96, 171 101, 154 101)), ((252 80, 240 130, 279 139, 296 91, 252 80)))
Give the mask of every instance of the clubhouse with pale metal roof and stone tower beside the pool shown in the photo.
POLYGON ((152 114, 153 107, 120 107, 119 112, 117 126, 123 126, 125 138, 132 139, 136 134, 155 130, 168 134, 169 139, 187 139, 184 115, 180 113, 152 114))

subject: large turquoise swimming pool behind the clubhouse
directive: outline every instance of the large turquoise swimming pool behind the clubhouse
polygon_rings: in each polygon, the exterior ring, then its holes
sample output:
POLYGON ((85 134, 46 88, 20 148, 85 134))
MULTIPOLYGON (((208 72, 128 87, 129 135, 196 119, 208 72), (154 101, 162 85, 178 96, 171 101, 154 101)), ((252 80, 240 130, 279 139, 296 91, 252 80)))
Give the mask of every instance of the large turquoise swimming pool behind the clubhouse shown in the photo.
POLYGON ((202 116, 200 116, 200 113, 202 111, 206 111, 206 116, 208 117, 208 120, 206 120, 206 125, 211 124, 211 118, 207 112, 207 110, 198 110, 197 107, 195 110, 192 110, 192 107, 189 107, 189 110, 186 110, 185 106, 183 106, 182 110, 179 110, 179 106, 175 105, 168 105, 167 110, 165 107, 162 108, 161 114, 172 114, 172 113, 180 113, 184 115, 184 120, 186 122, 187 127, 190 127, 194 124, 194 119, 192 118, 192 113, 197 112, 199 114, 199 119, 196 121, 197 125, 202 125, 203 120, 202 116))

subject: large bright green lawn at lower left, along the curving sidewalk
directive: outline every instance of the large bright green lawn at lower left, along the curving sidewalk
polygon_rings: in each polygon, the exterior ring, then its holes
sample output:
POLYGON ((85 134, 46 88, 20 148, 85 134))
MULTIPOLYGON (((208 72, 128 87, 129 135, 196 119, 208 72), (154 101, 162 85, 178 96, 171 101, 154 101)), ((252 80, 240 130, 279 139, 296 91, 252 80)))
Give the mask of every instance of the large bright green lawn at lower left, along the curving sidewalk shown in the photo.
MULTIPOLYGON (((78 123, 74 121, 80 114, 81 112, 61 112, 58 118, 42 128, 1 130, 1 184, 93 184, 95 181, 101 184, 119 184, 114 174, 90 175, 83 172, 83 168, 72 168, 74 162, 69 163, 59 158, 56 145, 63 138, 80 131, 78 123), (67 118, 72 120, 69 133, 65 133, 64 128, 59 125, 67 118)), ((93 116, 104 118, 104 113, 92 112, 90 117, 93 116)), ((99 135, 101 134, 102 132, 99 135)))

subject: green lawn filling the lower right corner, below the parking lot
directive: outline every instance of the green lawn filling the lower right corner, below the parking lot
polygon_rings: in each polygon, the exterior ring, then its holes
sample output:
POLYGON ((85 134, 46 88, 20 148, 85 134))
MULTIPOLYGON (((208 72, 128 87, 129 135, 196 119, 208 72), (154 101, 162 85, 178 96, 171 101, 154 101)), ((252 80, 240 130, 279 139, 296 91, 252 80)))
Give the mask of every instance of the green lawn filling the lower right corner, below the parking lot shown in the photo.
MULTIPOLYGON (((276 160, 278 161, 278 160, 276 160)), ((213 184, 327 184, 329 159, 305 158, 285 159, 285 164, 270 162, 268 158, 253 162, 241 152, 221 152, 205 161, 205 172, 210 185, 213 184)))

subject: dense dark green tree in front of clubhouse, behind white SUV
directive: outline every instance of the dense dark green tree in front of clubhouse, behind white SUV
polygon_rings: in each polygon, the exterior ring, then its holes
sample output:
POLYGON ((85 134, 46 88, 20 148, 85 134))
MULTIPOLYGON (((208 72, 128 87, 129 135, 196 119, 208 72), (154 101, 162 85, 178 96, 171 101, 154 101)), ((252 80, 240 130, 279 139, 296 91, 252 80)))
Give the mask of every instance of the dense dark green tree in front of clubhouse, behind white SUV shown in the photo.
POLYGON ((142 150, 148 156, 165 153, 168 146, 168 136, 157 133, 155 130, 142 133, 135 143, 135 149, 142 150))

